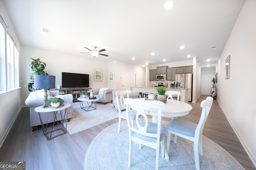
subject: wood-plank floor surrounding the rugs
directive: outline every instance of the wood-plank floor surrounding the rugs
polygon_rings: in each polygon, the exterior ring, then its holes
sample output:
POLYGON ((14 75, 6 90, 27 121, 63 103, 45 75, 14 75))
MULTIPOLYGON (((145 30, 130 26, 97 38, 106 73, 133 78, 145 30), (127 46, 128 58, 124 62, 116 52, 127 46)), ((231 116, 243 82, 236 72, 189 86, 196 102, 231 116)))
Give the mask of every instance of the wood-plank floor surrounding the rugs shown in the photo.
MULTIPOLYGON (((190 103, 193 107, 190 114, 179 118, 198 123, 202 111, 200 102, 206 97, 200 96, 195 104, 190 103)), ((29 108, 22 108, 0 148, 0 161, 25 161, 27 170, 82 170, 86 150, 94 137, 109 125, 118 122, 118 118, 50 141, 46 140, 40 126, 37 131, 32 131, 29 122, 29 108)), ((256 169, 216 100, 204 126, 203 135, 227 150, 246 170, 256 169)))

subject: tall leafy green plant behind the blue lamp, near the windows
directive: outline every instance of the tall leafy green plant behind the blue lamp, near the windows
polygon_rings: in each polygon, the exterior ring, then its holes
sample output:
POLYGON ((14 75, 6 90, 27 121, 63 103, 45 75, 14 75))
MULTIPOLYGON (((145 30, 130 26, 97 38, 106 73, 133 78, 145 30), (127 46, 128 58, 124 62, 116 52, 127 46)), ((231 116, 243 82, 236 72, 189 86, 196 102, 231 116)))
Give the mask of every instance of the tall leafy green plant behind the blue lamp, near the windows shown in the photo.
MULTIPOLYGON (((32 58, 30 58, 32 59, 32 58)), ((28 86, 28 91, 30 92, 34 92, 34 75, 48 75, 45 71, 44 68, 46 67, 46 64, 42 61, 40 61, 40 59, 32 59, 33 61, 29 64, 30 68, 32 71, 29 78, 30 78, 30 82, 25 84, 25 86, 28 86)))

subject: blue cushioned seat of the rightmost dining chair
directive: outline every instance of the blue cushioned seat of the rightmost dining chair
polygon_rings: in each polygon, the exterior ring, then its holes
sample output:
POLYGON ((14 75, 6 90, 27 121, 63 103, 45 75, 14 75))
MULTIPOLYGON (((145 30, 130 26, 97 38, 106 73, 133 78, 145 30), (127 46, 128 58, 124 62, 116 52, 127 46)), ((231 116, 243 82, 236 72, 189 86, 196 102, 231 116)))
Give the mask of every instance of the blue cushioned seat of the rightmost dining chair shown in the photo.
POLYGON ((190 137, 195 137, 196 127, 196 123, 182 119, 173 119, 166 125, 166 128, 170 129, 171 131, 175 131, 177 133, 190 137))

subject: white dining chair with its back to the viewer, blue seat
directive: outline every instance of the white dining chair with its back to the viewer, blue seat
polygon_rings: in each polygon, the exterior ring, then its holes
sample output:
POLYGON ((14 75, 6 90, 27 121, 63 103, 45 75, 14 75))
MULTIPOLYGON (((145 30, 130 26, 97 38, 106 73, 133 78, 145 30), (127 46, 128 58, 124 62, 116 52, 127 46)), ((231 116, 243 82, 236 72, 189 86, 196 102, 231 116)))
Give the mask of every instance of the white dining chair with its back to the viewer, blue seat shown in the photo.
POLYGON ((128 117, 128 127, 129 127, 129 158, 128 167, 132 166, 132 151, 134 142, 139 143, 139 148, 141 145, 145 145, 156 149, 156 170, 158 169, 158 159, 159 159, 159 147, 161 144, 161 156, 164 157, 164 136, 166 133, 166 128, 161 125, 162 110, 165 109, 165 104, 160 101, 150 101, 150 100, 135 100, 135 99, 124 99, 126 104, 126 117, 128 117), (136 125, 133 127, 130 120, 129 109, 134 109, 136 113, 136 125), (147 109, 154 108, 158 110, 158 122, 152 123, 148 121, 146 115, 147 109), (143 117, 139 119, 139 117, 143 117))

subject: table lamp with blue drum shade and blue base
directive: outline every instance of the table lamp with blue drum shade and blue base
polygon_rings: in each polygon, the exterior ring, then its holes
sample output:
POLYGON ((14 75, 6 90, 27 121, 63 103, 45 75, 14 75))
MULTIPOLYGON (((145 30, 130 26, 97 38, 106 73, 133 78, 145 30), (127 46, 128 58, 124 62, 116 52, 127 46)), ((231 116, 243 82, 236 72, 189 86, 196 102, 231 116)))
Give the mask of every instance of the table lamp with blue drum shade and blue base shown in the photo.
POLYGON ((50 106, 50 104, 47 103, 47 90, 49 90, 50 88, 55 88, 55 76, 34 75, 34 88, 44 89, 44 105, 42 107, 46 108, 50 106))

